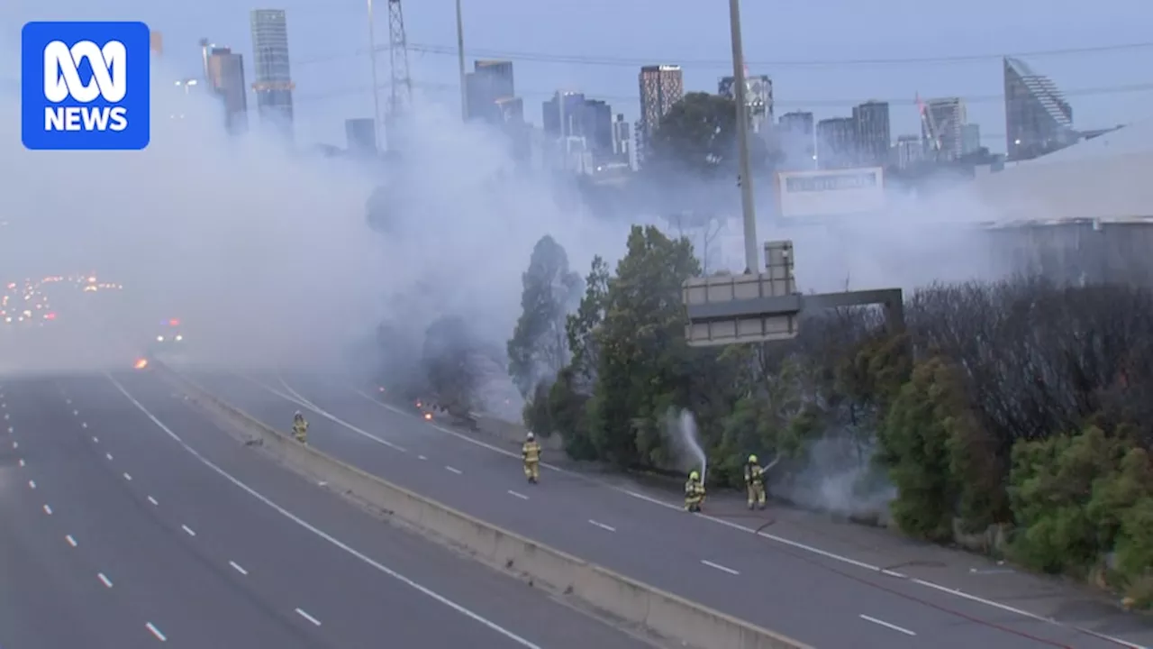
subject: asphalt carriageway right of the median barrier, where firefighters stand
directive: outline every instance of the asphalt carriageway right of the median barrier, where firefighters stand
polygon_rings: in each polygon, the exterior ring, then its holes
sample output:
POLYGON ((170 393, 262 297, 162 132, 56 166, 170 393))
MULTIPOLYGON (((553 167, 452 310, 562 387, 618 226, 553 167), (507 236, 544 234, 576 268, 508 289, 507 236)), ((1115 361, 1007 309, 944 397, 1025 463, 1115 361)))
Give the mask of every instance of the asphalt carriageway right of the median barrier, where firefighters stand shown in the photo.
POLYGON ((768 544, 744 525, 689 516, 668 498, 564 470, 528 485, 515 449, 422 422, 337 380, 195 380, 280 430, 300 409, 311 445, 389 480, 821 649, 1121 646, 889 579, 816 547, 768 544))

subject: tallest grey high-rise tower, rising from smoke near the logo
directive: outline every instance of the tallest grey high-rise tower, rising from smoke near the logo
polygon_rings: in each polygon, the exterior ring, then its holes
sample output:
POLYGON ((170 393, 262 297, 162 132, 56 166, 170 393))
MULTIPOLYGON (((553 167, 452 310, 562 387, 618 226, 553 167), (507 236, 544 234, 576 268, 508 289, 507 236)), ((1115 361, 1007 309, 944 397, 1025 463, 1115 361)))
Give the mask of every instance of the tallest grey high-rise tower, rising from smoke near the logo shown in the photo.
POLYGON ((295 85, 288 62, 288 23, 284 9, 253 9, 251 29, 256 110, 262 121, 291 132, 295 85))

